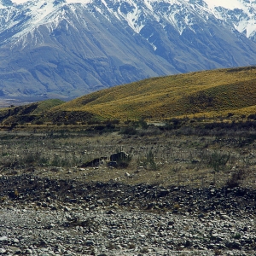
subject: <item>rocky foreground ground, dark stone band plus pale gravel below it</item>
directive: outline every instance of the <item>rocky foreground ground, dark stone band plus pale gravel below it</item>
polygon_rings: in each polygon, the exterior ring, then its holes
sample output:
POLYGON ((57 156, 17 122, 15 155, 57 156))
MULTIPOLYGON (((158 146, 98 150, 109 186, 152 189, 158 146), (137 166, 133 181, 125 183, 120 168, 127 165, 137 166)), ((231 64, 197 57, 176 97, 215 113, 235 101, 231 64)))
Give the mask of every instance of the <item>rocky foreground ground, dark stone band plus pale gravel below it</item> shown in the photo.
POLYGON ((256 191, 0 177, 0 255, 256 255, 256 191))

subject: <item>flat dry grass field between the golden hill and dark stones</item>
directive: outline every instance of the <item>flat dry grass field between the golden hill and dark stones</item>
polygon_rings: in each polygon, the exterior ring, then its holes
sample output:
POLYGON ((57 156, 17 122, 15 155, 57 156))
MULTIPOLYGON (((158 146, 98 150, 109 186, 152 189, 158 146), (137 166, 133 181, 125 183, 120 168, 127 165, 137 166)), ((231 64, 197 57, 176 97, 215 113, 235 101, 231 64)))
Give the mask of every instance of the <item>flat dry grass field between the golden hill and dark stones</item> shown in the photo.
POLYGON ((127 127, 108 132, 73 131, 64 125, 51 131, 27 132, 19 127, 2 131, 0 173, 32 172, 84 182, 256 187, 256 132, 252 128, 181 126, 163 131, 155 125, 127 127), (110 155, 120 151, 131 158, 123 165, 108 166, 110 155), (99 165, 87 165, 95 159, 101 159, 99 165))

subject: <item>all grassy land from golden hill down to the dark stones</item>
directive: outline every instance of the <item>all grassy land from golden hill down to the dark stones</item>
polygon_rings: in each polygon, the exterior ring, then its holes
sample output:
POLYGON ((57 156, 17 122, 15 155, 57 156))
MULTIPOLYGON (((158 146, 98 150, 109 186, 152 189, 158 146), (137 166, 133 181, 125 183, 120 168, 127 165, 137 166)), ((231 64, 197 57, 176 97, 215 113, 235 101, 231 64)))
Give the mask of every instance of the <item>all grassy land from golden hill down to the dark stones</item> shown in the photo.
POLYGON ((254 188, 255 77, 256 67, 189 73, 3 108, 0 173, 254 188))

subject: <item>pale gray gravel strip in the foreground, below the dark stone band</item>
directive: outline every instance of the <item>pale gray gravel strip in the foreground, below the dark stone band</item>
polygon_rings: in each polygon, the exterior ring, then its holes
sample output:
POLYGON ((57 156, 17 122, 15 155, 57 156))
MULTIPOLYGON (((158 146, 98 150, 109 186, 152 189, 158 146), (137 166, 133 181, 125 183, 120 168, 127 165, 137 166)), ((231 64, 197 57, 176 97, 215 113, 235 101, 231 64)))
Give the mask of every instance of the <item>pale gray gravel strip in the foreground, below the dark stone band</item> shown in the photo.
POLYGON ((6 201, 0 255, 256 255, 255 219, 6 201))

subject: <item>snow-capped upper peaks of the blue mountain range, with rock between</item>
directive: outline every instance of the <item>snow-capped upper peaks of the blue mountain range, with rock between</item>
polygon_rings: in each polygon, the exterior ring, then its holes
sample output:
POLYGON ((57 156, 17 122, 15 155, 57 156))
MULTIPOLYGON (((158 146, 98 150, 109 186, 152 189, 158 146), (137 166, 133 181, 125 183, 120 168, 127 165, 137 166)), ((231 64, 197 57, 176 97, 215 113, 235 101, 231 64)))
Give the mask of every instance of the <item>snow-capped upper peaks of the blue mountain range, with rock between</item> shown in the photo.
MULTIPOLYGON (((6 24, 3 25, 0 16, 0 32, 17 25, 21 19, 25 20, 22 20, 23 33, 42 24, 56 25, 65 16, 61 15, 61 8, 69 6, 76 12, 80 7, 73 5, 75 3, 82 3, 81 8, 84 9, 93 6, 95 12, 110 21, 125 20, 136 33, 143 30, 147 20, 154 20, 162 27, 172 24, 180 35, 186 28, 195 32, 194 27, 198 22, 207 22, 208 17, 213 15, 235 27, 247 38, 256 34, 256 2, 253 0, 0 0, 0 10, 11 6, 17 8, 15 15, 21 10, 23 17, 14 20, 12 15, 6 17, 5 14, 2 20, 6 24)), ((20 37, 20 33, 16 33, 16 36, 20 37)))

